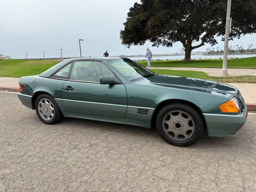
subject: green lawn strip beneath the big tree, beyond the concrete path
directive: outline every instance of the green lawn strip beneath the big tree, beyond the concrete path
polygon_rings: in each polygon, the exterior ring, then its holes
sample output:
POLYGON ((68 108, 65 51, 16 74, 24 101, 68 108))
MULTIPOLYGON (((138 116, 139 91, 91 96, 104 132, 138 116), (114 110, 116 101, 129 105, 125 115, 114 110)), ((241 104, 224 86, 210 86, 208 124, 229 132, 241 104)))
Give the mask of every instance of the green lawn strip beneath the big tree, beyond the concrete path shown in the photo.
MULTIPOLYGON (((138 61, 140 65, 147 66, 147 61, 138 61)), ((193 61, 151 61, 151 67, 203 67, 203 68, 222 68, 223 60, 207 59, 193 61)), ((256 69, 256 57, 229 59, 228 68, 249 68, 256 69)))

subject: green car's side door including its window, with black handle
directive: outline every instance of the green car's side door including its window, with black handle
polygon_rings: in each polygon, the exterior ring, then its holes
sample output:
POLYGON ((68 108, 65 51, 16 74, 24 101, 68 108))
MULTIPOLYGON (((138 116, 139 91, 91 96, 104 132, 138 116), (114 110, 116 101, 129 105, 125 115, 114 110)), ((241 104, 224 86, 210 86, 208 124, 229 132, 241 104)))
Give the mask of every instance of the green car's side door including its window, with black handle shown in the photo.
POLYGON ((62 87, 68 112, 124 118, 127 93, 124 84, 100 84, 100 76, 114 75, 100 61, 74 61, 70 78, 62 87))

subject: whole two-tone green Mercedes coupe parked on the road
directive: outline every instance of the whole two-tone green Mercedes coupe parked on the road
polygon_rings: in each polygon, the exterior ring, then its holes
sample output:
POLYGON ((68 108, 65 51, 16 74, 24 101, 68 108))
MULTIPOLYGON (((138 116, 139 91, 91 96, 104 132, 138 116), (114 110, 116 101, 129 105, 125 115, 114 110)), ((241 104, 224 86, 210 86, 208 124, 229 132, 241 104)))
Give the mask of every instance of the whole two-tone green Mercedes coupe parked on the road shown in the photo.
POLYGON ((247 118, 238 89, 227 84, 155 74, 127 58, 74 58, 20 78, 22 104, 46 124, 77 117, 156 127, 172 145, 236 136, 247 118))

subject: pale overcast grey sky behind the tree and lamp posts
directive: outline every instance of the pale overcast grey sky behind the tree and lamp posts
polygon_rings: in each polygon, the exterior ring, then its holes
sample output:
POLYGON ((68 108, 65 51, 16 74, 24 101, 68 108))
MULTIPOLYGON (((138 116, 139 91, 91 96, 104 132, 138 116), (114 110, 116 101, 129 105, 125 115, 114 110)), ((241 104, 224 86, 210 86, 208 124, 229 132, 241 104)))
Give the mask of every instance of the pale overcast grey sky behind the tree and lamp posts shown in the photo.
MULTIPOLYGON (((182 44, 173 47, 151 47, 121 44, 119 32, 129 8, 136 0, 0 0, 0 53, 13 59, 79 57, 78 39, 81 42, 82 56, 101 56, 108 50, 113 55, 145 54, 147 47, 155 54, 180 52, 182 44)), ((224 42, 218 38, 218 45, 224 42)), ((256 47, 256 34, 246 35, 230 41, 229 45, 249 44, 256 47)), ((205 51, 204 45, 194 51, 205 51)))

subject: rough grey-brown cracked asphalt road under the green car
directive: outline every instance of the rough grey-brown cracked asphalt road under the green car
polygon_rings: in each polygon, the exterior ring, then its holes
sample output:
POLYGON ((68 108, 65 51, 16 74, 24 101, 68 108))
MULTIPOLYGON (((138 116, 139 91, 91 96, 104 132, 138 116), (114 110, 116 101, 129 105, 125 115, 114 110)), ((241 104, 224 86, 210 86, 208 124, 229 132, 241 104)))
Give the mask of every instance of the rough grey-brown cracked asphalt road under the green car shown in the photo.
POLYGON ((141 127, 46 125, 0 92, 0 191, 256 191, 255 135, 249 114, 236 137, 176 147, 141 127))

